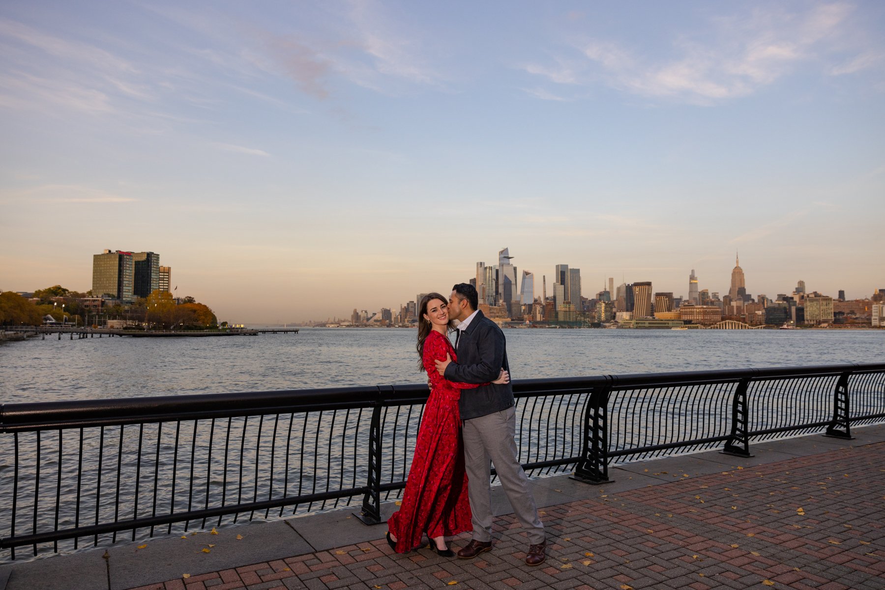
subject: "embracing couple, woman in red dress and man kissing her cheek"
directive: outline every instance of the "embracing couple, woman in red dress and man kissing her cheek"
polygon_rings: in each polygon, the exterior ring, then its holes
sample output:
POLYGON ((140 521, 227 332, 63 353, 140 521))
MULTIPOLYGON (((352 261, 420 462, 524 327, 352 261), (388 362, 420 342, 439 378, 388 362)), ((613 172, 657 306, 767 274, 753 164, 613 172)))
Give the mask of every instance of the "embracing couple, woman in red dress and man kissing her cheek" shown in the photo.
POLYGON ((388 520, 387 540, 397 553, 423 545, 454 557, 446 537, 473 531, 458 550, 471 559, 492 548, 490 463, 526 530, 528 565, 546 558, 546 541, 535 499, 517 456, 516 410, 504 333, 479 310, 476 288, 452 287, 419 303, 419 367, 427 372, 430 397, 415 443, 400 510, 388 520), (460 322, 455 346, 450 322, 460 322), (469 500, 469 501, 468 501, 469 500))

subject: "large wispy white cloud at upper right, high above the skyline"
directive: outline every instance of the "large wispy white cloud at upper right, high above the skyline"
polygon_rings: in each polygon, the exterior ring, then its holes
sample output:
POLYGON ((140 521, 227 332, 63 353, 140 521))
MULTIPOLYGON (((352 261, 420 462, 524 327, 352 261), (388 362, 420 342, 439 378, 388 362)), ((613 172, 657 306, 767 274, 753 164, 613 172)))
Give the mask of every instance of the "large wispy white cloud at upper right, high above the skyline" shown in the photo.
MULTIPOLYGON (((674 38, 673 57, 643 56, 618 42, 590 39, 572 42, 582 62, 554 56, 552 65, 533 63, 523 69, 557 84, 602 83, 641 96, 710 104, 750 95, 804 61, 824 60, 843 50, 844 42, 835 39, 843 34, 852 10, 850 4, 835 3, 791 14, 774 5, 749 16, 714 19, 712 40, 697 34, 674 38)), ((829 73, 857 72, 881 57, 881 52, 867 51, 829 68, 829 73)))

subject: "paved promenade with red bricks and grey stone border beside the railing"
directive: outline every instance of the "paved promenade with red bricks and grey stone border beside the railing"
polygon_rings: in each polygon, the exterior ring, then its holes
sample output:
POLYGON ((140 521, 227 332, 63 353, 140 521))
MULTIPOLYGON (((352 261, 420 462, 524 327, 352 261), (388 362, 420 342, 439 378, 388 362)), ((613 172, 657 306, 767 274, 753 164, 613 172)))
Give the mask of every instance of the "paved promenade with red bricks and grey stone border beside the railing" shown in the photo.
POLYGON ((496 545, 473 560, 393 554, 384 525, 339 510, 6 565, 0 590, 881 590, 885 425, 852 434, 759 442, 750 458, 711 451, 627 464, 604 486, 533 479, 549 547, 534 568, 497 494, 496 545))

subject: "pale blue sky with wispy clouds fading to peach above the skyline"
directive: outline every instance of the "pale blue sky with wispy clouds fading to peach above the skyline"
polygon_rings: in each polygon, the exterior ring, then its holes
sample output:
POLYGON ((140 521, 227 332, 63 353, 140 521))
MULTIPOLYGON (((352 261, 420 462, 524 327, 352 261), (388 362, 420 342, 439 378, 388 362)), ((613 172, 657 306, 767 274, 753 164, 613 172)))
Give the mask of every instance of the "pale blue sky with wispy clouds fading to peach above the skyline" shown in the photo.
POLYGON ((236 323, 885 288, 885 3, 4 0, 0 289, 154 251, 236 323), (548 293, 551 293, 550 285, 548 293), (536 295, 540 295, 537 287, 536 295))

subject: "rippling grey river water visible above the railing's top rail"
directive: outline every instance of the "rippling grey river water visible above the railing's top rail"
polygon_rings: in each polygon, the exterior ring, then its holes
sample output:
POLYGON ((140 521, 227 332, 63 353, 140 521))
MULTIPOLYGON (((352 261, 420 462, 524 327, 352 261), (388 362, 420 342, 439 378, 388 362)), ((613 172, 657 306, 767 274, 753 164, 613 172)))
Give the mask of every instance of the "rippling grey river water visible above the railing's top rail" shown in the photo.
MULTIPOLYGON (((505 330, 512 379, 873 363, 878 330, 505 330)), ((221 338, 47 336, 0 346, 0 402, 420 383, 416 332, 304 328, 221 338)))

